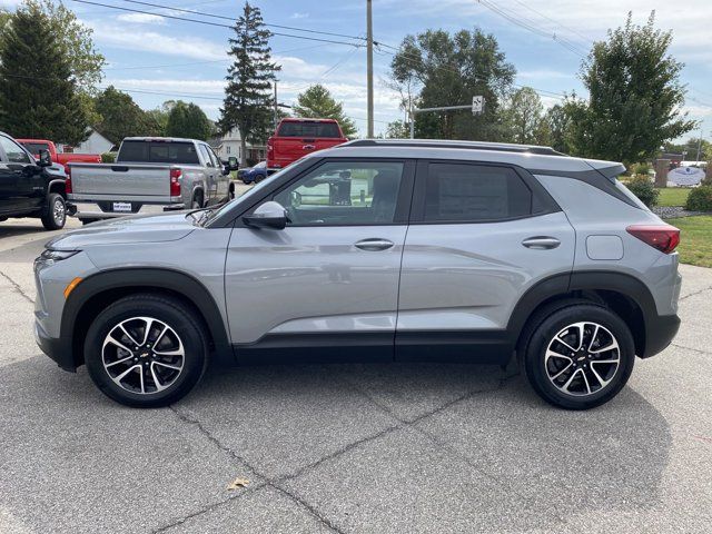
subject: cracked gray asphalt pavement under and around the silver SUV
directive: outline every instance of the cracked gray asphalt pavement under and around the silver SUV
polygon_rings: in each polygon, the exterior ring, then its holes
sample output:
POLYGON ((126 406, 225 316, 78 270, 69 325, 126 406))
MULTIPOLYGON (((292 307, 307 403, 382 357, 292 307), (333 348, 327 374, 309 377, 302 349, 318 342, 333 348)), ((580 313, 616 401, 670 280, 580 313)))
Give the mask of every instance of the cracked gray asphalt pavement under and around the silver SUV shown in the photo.
POLYGON ((682 268, 675 344, 587 413, 512 369, 437 365, 209 373, 135 411, 34 346, 49 237, 0 224, 2 533, 712 530, 712 270, 682 268))

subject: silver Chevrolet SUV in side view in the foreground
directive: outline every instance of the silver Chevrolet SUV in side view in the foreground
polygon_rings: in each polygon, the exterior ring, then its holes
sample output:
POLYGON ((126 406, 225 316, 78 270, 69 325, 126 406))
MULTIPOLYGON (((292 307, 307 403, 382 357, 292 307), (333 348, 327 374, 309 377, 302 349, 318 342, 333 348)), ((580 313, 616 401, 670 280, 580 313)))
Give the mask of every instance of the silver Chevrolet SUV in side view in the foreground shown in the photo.
POLYGON ((680 325, 680 233, 623 170, 545 147, 353 141, 219 208, 52 239, 34 333, 130 406, 178 400, 209 360, 516 356, 545 400, 591 408, 680 325))

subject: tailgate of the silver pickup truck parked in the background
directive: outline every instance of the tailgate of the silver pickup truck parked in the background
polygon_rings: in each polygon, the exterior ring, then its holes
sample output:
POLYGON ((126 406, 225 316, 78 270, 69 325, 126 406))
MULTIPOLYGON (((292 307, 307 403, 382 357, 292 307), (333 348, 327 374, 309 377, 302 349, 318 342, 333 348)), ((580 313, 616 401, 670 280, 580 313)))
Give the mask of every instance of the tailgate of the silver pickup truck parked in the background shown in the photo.
POLYGON ((170 197, 170 166, 70 164, 72 198, 131 200, 170 197))

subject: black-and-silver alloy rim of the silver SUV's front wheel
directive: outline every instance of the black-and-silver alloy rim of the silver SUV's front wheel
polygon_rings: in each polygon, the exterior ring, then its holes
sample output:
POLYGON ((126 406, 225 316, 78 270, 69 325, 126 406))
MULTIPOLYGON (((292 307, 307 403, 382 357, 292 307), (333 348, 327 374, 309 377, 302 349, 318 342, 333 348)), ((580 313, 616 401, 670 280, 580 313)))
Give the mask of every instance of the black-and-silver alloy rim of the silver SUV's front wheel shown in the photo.
POLYGON ((185 349, 180 336, 154 317, 131 317, 103 339, 101 362, 116 385, 149 395, 170 387, 181 375, 185 349))

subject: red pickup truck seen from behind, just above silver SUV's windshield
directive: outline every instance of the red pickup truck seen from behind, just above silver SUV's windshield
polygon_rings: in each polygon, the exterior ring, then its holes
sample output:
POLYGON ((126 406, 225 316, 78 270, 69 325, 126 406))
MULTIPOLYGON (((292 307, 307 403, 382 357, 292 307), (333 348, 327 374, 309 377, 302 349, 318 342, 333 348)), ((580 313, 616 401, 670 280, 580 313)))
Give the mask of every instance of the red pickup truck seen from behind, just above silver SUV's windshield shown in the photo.
POLYGON ((279 170, 316 150, 348 139, 334 119, 281 119, 267 141, 267 169, 279 170))

